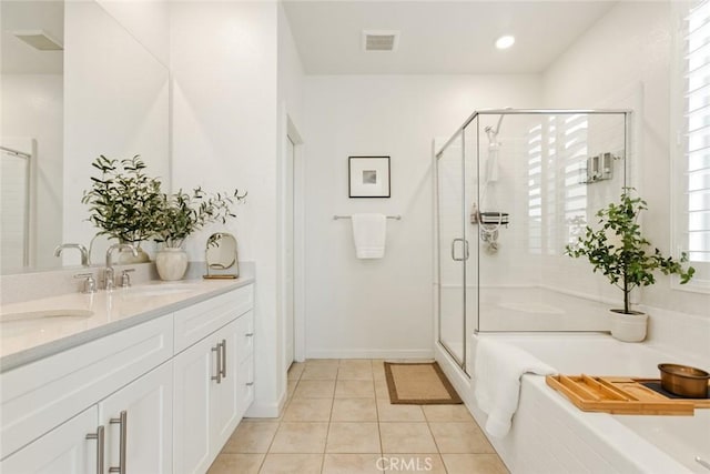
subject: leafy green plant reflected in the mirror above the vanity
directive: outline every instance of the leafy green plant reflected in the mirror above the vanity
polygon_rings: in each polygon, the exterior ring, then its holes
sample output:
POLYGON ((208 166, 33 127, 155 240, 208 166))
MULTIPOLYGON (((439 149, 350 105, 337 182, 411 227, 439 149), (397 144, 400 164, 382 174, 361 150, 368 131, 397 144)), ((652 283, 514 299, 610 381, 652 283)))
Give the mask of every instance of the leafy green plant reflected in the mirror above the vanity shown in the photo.
MULTIPOLYGON (((121 243, 131 243, 139 258, 130 263, 148 262, 141 242, 153 235, 154 216, 161 210, 161 182, 145 174, 140 155, 115 160, 104 155, 91 165, 101 172, 91 177, 91 189, 84 191, 82 203, 89 204, 89 221, 121 243)), ((122 261, 128 263, 122 256, 122 261)))

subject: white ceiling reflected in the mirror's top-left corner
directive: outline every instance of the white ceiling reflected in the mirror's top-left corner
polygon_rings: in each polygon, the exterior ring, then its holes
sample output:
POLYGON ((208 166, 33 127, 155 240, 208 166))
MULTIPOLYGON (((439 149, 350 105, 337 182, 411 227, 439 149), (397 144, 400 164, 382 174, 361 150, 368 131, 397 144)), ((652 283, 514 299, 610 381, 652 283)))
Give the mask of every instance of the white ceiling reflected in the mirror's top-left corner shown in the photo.
POLYGON ((43 30, 64 42, 63 1, 0 1, 0 39, 2 61, 0 71, 16 74, 61 73, 63 51, 39 51, 12 32, 17 30, 43 30))

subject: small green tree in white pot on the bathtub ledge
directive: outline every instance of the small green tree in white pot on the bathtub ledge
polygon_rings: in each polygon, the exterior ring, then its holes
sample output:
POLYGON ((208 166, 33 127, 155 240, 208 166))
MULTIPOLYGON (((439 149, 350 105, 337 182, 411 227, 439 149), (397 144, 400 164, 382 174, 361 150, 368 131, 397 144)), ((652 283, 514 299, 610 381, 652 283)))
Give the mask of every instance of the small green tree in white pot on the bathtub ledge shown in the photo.
POLYGON ((619 203, 610 203, 597 212, 600 228, 586 228, 585 235, 565 253, 572 258, 586 256, 594 271, 600 271, 623 292, 623 309, 611 310, 611 335, 626 342, 639 342, 646 339, 648 315, 631 310, 629 296, 637 286, 656 283, 653 272, 659 270, 666 275, 677 274, 680 283, 690 281, 694 269, 683 269, 688 261, 683 253, 679 260, 666 258, 660 250, 641 234, 638 218, 647 209, 646 201, 631 196, 631 188, 625 188, 619 203))

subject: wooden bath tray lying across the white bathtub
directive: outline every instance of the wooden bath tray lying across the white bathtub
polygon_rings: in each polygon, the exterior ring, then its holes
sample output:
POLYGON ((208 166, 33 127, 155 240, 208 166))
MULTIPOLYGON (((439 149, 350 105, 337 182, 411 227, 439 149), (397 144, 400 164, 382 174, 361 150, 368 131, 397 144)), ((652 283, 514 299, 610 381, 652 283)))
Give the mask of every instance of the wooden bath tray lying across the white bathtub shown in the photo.
POLYGON ((591 375, 548 375, 547 384, 565 394, 585 412, 623 415, 690 415, 694 409, 710 409, 710 399, 666 396, 642 383, 658 379, 591 375))

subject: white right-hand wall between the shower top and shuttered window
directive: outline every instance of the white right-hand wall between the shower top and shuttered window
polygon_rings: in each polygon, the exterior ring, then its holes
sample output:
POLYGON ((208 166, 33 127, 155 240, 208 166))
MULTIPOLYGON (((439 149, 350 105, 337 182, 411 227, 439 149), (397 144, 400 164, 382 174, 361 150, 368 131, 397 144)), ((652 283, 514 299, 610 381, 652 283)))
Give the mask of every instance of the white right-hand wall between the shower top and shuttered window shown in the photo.
MULTIPOLYGON (((669 2, 619 2, 588 30, 544 75, 550 108, 628 107, 623 97, 641 91, 635 108, 636 175, 631 184, 648 201, 645 232, 670 252, 670 71, 672 46, 669 2), (619 101, 626 103, 619 103, 619 101)), ((579 262, 586 264, 586 262, 579 262)), ((597 275, 601 281, 604 276, 597 275)), ((708 314, 708 296, 673 290, 670 280, 642 292, 646 305, 708 314)))

